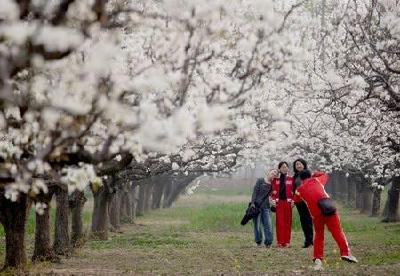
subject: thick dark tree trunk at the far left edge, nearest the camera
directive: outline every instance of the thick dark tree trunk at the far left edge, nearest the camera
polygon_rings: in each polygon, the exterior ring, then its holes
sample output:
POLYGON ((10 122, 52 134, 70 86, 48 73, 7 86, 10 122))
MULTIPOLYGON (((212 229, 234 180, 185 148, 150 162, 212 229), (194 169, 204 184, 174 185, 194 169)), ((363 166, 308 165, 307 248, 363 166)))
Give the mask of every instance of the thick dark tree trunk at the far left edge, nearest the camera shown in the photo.
POLYGON ((6 258, 3 269, 25 268, 25 225, 28 213, 28 197, 19 193, 18 199, 12 202, 0 193, 0 222, 6 236, 6 258))

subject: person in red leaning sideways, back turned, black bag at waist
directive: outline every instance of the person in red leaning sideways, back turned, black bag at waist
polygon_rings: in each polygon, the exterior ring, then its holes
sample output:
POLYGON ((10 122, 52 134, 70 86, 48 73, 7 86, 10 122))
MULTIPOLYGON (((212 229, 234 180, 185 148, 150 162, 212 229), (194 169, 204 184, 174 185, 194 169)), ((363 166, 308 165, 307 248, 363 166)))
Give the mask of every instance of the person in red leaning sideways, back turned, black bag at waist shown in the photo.
POLYGON ((356 263, 357 259, 350 254, 349 244, 340 225, 339 215, 332 200, 325 191, 328 175, 323 172, 315 172, 311 178, 305 179, 303 184, 296 189, 295 202, 304 200, 310 210, 314 229, 314 262, 316 270, 322 269, 324 257, 324 227, 328 227, 332 237, 340 249, 342 260, 356 263))

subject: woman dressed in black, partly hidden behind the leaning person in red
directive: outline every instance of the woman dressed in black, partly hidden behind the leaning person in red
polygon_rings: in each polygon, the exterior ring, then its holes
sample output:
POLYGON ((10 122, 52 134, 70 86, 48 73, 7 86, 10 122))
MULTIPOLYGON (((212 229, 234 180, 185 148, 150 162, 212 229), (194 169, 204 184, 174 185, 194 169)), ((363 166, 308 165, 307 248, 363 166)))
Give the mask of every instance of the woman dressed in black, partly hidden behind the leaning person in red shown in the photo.
MULTIPOLYGON (((297 159, 293 162, 293 171, 294 171, 294 185, 293 185, 293 194, 296 192, 296 189, 301 186, 303 180, 311 177, 311 172, 307 169, 307 162, 304 159, 297 159)), ((310 211, 306 203, 301 200, 300 202, 296 203, 297 211, 299 212, 300 216, 300 223, 301 228, 303 229, 304 233, 304 245, 303 248, 307 248, 313 245, 313 237, 314 237, 314 230, 312 224, 312 218, 310 215, 310 211)))

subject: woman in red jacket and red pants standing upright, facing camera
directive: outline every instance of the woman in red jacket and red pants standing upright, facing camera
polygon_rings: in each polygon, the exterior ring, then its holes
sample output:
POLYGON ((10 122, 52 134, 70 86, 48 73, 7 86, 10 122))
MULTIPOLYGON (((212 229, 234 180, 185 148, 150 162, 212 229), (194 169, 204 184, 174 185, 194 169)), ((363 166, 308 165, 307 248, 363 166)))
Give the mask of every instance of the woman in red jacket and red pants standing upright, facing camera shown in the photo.
POLYGON ((279 177, 272 180, 271 204, 276 207, 276 240, 279 247, 289 247, 292 233, 293 178, 289 165, 280 162, 279 177))

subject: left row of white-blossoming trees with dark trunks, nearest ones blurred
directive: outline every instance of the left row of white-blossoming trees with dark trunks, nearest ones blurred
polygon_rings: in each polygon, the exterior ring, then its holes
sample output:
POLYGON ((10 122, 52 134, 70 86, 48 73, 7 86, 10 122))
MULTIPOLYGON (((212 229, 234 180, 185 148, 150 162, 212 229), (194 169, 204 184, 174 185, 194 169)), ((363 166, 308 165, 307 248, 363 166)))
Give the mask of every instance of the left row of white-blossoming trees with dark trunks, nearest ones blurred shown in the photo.
POLYGON ((53 259, 70 252, 70 240, 81 242, 88 185, 91 230, 106 238, 108 220, 118 227, 121 214, 135 213, 133 187, 140 187, 140 212, 149 194, 151 205, 159 204, 154 179, 168 178, 162 185, 168 206, 199 174, 235 166, 239 151, 251 148, 248 140, 268 141, 282 118, 268 103, 276 92, 265 89, 279 86, 282 68, 299 62, 289 16, 299 6, 2 0, 4 267, 26 264, 30 205, 38 213, 33 259, 53 259))

